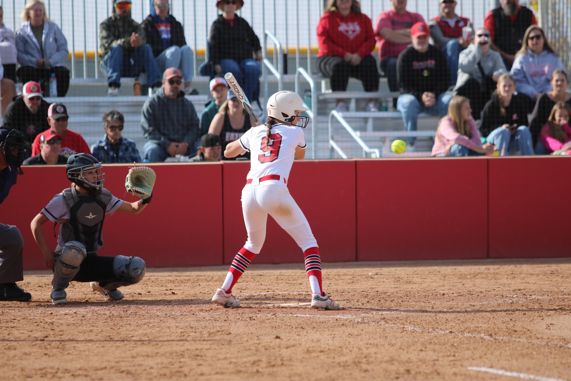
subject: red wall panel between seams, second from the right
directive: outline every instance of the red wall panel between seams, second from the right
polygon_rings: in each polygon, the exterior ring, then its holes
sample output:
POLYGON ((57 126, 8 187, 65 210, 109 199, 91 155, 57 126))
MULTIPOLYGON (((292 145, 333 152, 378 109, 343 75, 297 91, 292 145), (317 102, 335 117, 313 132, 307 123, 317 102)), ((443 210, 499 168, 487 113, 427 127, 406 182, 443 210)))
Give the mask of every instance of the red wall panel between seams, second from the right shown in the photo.
POLYGON ((486 258, 487 162, 357 161, 357 260, 486 258))

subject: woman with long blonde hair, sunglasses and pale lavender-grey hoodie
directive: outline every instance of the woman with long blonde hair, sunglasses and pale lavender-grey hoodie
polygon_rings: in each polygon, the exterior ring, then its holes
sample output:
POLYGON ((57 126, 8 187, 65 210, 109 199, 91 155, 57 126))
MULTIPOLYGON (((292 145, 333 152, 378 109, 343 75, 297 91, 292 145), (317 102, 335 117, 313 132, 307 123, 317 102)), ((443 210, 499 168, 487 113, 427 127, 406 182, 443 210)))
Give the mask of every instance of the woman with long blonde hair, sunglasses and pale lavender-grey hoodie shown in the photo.
POLYGON ((530 26, 525 31, 511 72, 517 92, 529 98, 526 99, 529 110, 533 110, 541 94, 552 90, 551 74, 556 69, 566 71, 557 53, 549 46, 543 30, 537 25, 530 26))

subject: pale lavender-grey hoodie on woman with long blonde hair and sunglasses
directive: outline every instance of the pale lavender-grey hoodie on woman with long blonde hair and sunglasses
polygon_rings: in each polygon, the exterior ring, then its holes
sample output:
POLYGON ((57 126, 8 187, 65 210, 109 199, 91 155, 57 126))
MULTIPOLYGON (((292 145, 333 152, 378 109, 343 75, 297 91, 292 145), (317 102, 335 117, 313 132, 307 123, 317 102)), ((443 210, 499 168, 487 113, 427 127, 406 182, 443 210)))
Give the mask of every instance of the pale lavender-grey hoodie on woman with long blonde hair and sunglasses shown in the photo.
POLYGON ((547 93, 552 90, 551 74, 556 69, 564 70, 567 73, 557 55, 547 50, 535 54, 528 49, 525 54, 516 57, 511 74, 516 80, 517 92, 533 99, 535 94, 547 93))

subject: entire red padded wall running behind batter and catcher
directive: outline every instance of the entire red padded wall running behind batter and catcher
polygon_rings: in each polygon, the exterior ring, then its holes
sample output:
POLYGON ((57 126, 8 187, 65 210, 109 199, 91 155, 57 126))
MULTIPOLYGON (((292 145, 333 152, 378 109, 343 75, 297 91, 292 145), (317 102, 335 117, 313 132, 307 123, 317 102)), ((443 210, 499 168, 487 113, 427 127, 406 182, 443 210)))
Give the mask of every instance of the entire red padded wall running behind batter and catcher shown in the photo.
MULTIPOLYGON (((127 201, 129 165, 105 165, 105 187, 127 201)), ((248 163, 153 164, 153 202, 104 223, 102 255, 139 255, 149 267, 230 263, 246 240, 240 191, 248 163)), ((23 167, 0 222, 25 240, 26 270, 45 269, 30 222, 70 183, 63 166, 23 167)), ((571 256, 571 158, 296 161, 288 188, 324 262, 571 256)), ((44 225, 55 247, 54 226, 44 225)), ((293 239, 268 217, 255 263, 301 263, 293 239)), ((300 267, 301 268, 301 267, 300 267)))

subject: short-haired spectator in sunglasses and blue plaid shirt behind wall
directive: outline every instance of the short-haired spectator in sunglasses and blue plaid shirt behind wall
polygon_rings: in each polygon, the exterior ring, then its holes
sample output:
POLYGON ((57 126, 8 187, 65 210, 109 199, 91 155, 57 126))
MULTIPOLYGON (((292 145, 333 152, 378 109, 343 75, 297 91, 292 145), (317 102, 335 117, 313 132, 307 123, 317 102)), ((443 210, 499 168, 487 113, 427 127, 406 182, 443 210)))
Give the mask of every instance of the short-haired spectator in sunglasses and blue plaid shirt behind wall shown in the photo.
POLYGON ((116 110, 107 111, 102 118, 105 136, 91 146, 91 155, 102 163, 140 162, 135 142, 123 138, 125 118, 116 110))

